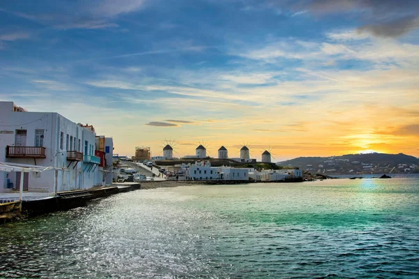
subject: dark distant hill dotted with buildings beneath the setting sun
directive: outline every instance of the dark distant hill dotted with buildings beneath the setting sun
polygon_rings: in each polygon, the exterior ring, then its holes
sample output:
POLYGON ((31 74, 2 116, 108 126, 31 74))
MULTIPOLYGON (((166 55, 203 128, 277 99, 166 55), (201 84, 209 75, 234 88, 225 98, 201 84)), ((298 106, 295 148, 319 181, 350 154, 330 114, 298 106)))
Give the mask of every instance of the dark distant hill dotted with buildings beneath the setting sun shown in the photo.
POLYGON ((332 157, 299 157, 277 163, 309 172, 324 174, 382 174, 419 172, 419 159, 413 156, 385 153, 348 154, 332 157))

